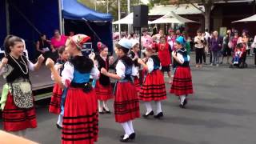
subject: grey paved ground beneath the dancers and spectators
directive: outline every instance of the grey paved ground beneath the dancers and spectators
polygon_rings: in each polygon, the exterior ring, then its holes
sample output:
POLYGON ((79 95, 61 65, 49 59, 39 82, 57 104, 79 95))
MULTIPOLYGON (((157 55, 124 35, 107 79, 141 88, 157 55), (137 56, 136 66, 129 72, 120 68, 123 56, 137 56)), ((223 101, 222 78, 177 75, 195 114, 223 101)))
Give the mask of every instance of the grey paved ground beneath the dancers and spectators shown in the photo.
MULTIPOLYGON (((252 63, 252 58, 248 63, 252 63)), ((256 68, 250 65, 247 69, 191 69, 195 94, 190 96, 187 109, 180 109, 178 99, 168 94, 162 105, 165 117, 136 119, 138 137, 131 143, 255 144, 256 68)), ((169 85, 166 90, 170 90, 169 85)), ((60 143, 61 132, 54 126, 57 116, 47 112, 49 99, 37 103, 38 128, 29 130, 26 137, 43 144, 60 143)), ((141 104, 143 114, 145 106, 141 104)), ((98 143, 120 143, 118 137, 123 130, 114 122, 114 115, 103 114, 99 122, 98 143)))

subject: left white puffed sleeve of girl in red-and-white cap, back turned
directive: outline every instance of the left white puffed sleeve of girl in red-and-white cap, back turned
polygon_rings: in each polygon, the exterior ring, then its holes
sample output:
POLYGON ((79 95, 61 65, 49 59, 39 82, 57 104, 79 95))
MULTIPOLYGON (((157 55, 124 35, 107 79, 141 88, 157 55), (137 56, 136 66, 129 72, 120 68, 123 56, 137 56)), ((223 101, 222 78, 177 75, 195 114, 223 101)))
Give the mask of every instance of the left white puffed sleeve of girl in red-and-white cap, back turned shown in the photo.
POLYGON ((69 86, 70 82, 74 78, 74 66, 70 62, 64 64, 64 69, 62 70, 62 84, 64 86, 69 86))

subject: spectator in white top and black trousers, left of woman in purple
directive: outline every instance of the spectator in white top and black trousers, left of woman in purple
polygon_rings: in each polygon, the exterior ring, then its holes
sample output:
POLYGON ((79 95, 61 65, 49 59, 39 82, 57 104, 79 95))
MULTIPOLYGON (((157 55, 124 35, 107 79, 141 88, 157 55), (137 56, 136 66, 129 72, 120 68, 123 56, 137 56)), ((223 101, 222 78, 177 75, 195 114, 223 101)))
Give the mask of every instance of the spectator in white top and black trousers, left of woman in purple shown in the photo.
POLYGON ((194 38, 194 43, 196 67, 202 67, 202 56, 204 53, 204 37, 202 36, 201 30, 198 30, 198 35, 194 38))

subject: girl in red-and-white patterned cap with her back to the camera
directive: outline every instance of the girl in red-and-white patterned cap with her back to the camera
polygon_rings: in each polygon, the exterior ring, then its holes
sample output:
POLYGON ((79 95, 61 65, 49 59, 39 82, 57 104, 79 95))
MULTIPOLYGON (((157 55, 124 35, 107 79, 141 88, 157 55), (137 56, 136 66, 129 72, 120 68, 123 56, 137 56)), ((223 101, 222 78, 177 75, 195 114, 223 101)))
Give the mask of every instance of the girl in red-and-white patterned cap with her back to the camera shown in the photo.
POLYGON ((54 69, 54 61, 46 60, 46 66, 54 81, 66 88, 63 114, 62 143, 92 144, 98 140, 97 96, 90 86, 90 76, 98 79, 99 70, 91 58, 82 55, 82 46, 90 37, 76 34, 66 41, 66 50, 72 57, 64 64, 62 76, 54 69))

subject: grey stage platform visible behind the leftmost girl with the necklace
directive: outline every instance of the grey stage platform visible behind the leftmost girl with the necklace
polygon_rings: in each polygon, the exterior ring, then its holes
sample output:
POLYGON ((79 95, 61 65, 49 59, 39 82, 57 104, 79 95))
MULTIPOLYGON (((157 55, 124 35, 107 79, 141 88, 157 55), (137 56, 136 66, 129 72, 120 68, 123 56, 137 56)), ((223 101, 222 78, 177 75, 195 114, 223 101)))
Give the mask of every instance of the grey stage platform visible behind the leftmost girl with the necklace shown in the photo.
MULTIPOLYGON (((38 71, 30 72, 30 80, 32 82, 32 90, 35 100, 49 98, 51 95, 54 81, 50 78, 50 70, 46 66, 42 66, 38 71)), ((0 77, 0 97, 2 94, 2 86, 6 83, 5 79, 0 77)))

